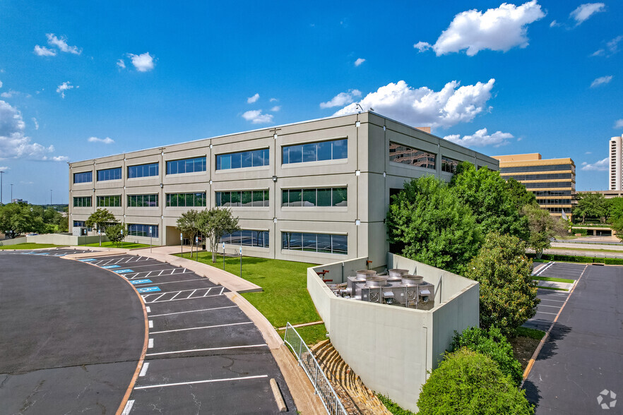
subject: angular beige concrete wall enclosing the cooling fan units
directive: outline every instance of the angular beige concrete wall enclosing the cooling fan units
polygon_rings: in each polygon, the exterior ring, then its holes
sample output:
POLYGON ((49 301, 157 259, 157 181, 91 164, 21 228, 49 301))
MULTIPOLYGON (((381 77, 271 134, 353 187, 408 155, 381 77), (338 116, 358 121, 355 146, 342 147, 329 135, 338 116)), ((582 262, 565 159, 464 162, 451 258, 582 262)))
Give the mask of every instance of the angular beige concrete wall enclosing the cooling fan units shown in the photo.
MULTIPOLYGON (((344 267, 362 269, 362 263, 365 258, 357 258, 344 261, 344 267)), ((308 268, 307 289, 333 346, 367 387, 417 411, 427 371, 439 364, 454 330, 478 325, 478 284, 398 255, 388 254, 387 263, 410 271, 417 267, 418 275, 441 286, 436 287, 436 306, 422 311, 337 297, 316 271, 340 272, 342 263, 308 268)))

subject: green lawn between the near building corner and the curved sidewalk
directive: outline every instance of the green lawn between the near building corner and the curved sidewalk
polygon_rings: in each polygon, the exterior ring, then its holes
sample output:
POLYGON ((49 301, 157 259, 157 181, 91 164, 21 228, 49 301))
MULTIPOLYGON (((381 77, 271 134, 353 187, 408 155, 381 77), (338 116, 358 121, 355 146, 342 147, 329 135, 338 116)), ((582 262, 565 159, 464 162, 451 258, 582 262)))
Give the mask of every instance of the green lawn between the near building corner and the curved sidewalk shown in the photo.
MULTIPOLYGON (((188 258, 189 254, 184 256, 188 258)), ((199 252, 199 261, 223 269, 222 255, 217 255, 216 263, 213 264, 210 252, 199 252)), ((284 327, 288 322, 296 325, 319 321, 321 318, 307 292, 307 267, 314 265, 244 256, 242 277, 258 284, 263 291, 245 293, 242 296, 265 315, 273 327, 284 327)), ((225 257, 225 271, 239 276, 240 258, 225 257)), ((324 324, 299 327, 297 332, 307 344, 315 344, 326 338, 324 324)), ((283 337, 283 332, 280 334, 283 337)))

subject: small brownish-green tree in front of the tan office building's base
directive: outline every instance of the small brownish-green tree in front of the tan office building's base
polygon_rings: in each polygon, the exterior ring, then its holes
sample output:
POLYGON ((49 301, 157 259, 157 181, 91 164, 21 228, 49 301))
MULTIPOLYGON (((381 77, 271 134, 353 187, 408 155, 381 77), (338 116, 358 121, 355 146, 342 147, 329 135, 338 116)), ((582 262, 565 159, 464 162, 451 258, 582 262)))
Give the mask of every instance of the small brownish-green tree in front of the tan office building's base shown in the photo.
POLYGON ((526 205, 521 212, 528 218, 530 229, 526 243, 534 249, 537 258, 541 258, 544 249, 550 248, 552 245, 550 239, 553 236, 566 234, 569 229, 569 222, 550 215, 550 212, 539 208, 538 205, 526 205))

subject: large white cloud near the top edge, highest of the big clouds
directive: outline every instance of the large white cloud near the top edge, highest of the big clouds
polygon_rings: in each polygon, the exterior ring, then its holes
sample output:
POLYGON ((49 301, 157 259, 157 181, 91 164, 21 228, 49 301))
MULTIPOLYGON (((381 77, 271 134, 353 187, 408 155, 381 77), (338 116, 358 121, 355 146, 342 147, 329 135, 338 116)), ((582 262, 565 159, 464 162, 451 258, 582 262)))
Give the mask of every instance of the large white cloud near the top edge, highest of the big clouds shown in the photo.
MULTIPOLYGON (((526 26, 544 17, 545 13, 536 0, 521 6, 503 3, 498 8, 489 8, 485 13, 463 11, 454 16, 432 49, 437 56, 463 49, 467 49, 468 56, 474 56, 485 49, 506 52, 513 47, 527 47, 526 26)), ((423 52, 429 44, 417 42, 414 47, 423 52)))

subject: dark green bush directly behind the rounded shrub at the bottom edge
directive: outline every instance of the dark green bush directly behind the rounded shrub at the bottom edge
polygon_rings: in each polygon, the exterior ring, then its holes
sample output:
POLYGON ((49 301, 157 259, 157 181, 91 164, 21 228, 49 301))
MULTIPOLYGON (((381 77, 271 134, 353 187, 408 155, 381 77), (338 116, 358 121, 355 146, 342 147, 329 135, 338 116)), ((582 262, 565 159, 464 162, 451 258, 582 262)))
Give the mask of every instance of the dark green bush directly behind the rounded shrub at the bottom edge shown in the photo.
POLYGON ((461 334, 454 332, 451 351, 458 349, 470 349, 489 356, 499 365, 504 375, 510 376, 518 386, 523 378, 521 363, 513 355, 513 347, 508 339, 497 327, 491 327, 489 331, 471 327, 463 330, 461 334))

